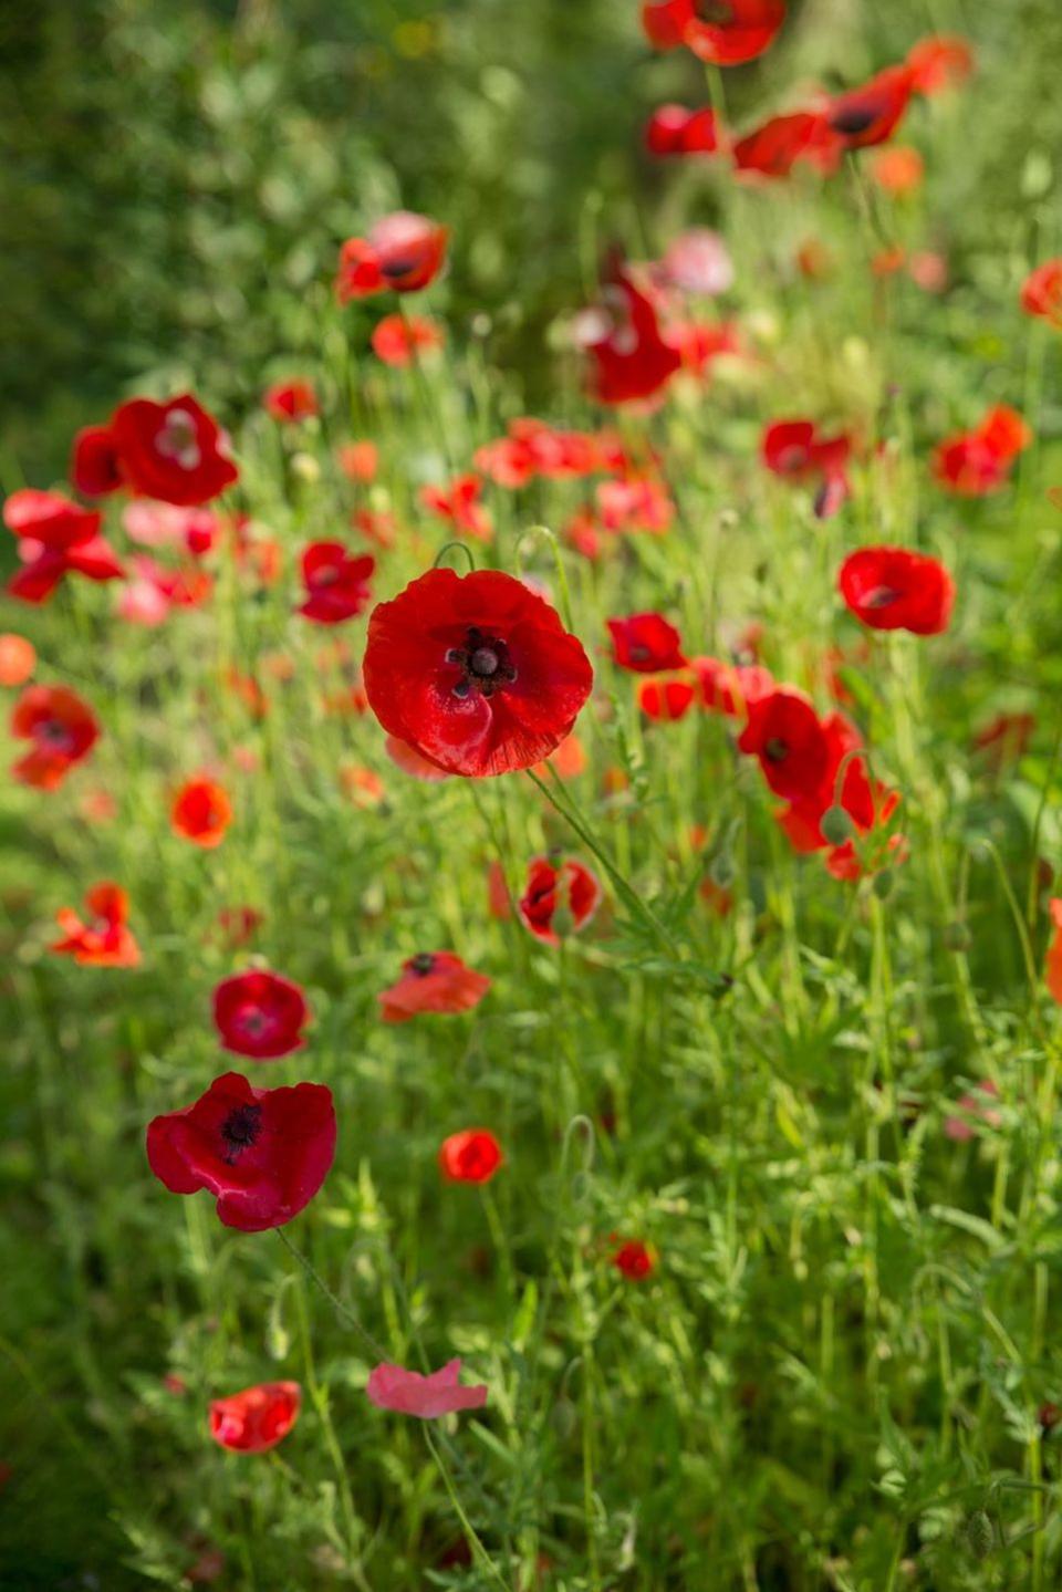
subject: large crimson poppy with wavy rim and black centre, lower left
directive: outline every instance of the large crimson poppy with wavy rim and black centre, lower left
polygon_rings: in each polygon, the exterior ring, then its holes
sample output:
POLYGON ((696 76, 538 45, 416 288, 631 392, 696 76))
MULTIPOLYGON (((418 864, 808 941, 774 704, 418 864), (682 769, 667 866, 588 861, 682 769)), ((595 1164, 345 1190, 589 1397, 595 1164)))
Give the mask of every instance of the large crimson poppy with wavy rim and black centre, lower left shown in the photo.
POLYGON ((226 1227, 283 1227, 309 1205, 334 1161, 331 1089, 252 1089, 242 1073, 223 1073, 194 1105, 156 1116, 146 1149, 170 1194, 215 1194, 226 1227))

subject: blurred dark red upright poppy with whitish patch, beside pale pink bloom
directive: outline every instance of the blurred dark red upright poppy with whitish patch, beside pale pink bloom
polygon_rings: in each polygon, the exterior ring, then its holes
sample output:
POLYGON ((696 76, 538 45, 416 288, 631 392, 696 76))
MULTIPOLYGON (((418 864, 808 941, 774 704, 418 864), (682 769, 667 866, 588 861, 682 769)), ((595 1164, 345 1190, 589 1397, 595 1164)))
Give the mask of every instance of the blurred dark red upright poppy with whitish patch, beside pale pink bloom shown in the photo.
POLYGON ((615 272, 603 299, 578 328, 594 361, 594 396, 608 404, 654 398, 680 369, 678 350, 664 338, 653 304, 626 271, 615 272))

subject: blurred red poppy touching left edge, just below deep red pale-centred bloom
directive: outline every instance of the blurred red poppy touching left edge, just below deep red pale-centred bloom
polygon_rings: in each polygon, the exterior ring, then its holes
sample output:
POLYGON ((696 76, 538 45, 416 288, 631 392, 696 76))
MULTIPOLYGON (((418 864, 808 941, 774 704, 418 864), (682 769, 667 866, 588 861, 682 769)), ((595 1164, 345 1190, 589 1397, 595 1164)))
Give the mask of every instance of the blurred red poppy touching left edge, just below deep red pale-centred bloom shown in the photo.
POLYGON ((8 581, 8 592, 21 602, 45 602, 64 575, 113 581, 124 573, 100 537, 100 516, 61 492, 13 492, 3 505, 3 522, 18 537, 22 568, 8 581))

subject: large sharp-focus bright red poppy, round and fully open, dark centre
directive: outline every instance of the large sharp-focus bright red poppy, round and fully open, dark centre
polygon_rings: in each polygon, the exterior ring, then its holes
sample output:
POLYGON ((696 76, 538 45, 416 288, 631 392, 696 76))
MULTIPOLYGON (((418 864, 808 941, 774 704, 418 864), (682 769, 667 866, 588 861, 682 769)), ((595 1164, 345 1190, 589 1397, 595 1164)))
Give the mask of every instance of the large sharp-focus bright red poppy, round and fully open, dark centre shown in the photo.
POLYGON ((373 610, 363 677, 385 731, 473 778, 548 756, 594 681, 581 642, 522 581, 447 568, 373 610))

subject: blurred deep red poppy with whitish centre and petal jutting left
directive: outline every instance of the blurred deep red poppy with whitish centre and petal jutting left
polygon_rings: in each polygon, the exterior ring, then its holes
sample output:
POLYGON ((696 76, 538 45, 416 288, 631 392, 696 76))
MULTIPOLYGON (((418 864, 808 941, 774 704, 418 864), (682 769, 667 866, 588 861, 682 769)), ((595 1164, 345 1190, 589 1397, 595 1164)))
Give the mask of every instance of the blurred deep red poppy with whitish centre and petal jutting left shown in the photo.
POLYGON ((161 503, 193 506, 231 487, 239 470, 218 422, 191 393, 182 393, 167 403, 131 398, 105 428, 80 431, 70 479, 91 497, 124 486, 161 503))

